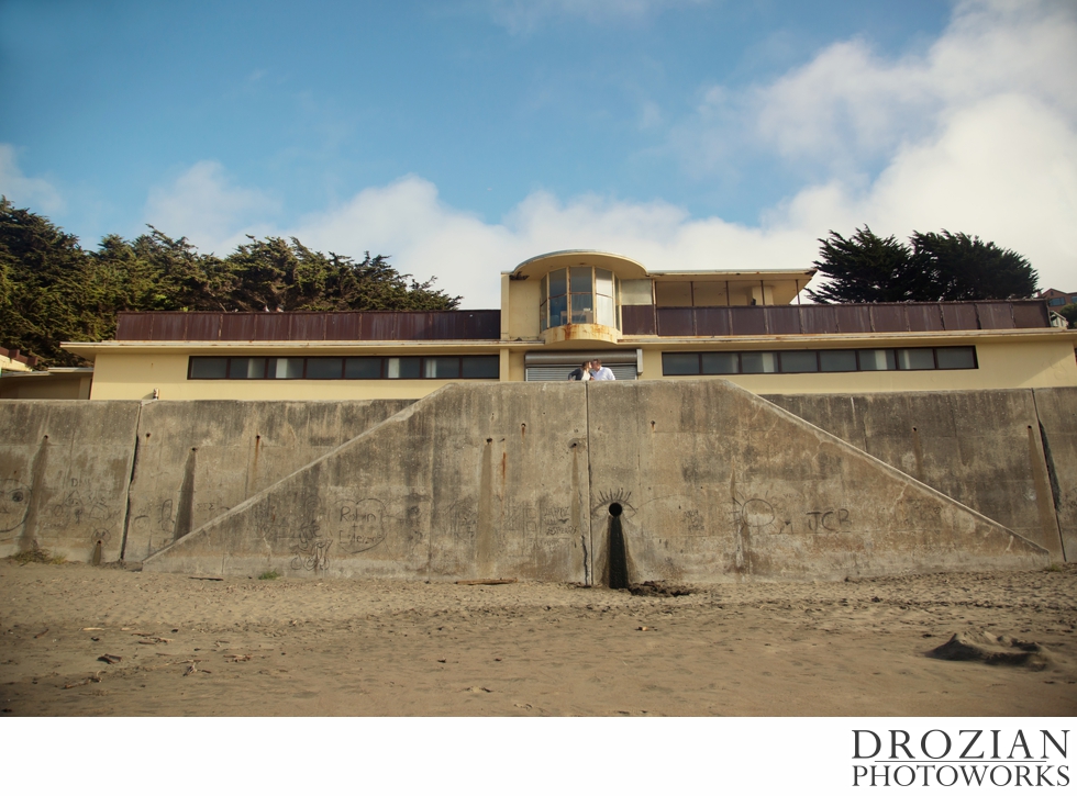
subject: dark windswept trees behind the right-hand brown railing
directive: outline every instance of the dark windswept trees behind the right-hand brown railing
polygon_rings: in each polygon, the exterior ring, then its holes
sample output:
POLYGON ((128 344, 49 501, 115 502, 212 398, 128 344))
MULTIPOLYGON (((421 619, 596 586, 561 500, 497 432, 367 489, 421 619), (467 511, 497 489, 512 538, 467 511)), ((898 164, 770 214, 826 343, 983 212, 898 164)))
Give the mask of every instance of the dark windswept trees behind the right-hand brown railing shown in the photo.
POLYGON ((880 238, 865 225, 845 238, 820 238, 820 272, 808 293, 823 303, 1028 299, 1037 276, 1015 251, 965 233, 913 232, 909 243, 880 238))

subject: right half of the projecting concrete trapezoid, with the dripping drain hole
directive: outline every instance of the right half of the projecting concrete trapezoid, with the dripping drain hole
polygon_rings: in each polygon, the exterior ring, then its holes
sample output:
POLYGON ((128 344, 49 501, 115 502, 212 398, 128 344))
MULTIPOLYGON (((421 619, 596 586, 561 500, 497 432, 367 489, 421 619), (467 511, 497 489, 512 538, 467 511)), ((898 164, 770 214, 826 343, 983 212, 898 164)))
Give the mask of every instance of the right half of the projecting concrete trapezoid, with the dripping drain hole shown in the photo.
POLYGON ((729 382, 587 390, 600 579, 612 576, 617 511, 632 582, 828 580, 1047 561, 1039 546, 729 382))

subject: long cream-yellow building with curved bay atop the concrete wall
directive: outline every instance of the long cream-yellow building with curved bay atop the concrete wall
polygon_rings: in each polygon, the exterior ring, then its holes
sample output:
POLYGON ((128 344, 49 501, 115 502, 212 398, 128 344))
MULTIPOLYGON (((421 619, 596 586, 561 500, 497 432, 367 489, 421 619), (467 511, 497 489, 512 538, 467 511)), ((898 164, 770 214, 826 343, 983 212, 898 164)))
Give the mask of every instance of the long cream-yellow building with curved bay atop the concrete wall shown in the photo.
POLYGON ((121 313, 66 343, 93 400, 419 399, 451 381, 729 379, 757 394, 1077 386, 1050 299, 802 304, 814 269, 648 271, 567 250, 501 274, 498 310, 121 313))

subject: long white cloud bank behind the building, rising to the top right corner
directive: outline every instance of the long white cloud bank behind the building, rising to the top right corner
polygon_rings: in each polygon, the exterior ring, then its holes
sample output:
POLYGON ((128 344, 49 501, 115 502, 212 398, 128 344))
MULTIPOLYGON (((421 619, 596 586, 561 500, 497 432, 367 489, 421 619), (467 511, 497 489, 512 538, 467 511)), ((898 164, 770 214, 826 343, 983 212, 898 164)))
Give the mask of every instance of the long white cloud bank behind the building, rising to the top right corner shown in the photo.
MULTIPOLYGON (((467 307, 498 306, 498 273, 547 251, 604 249, 653 270, 809 268, 817 238, 865 223, 898 237, 942 228, 979 235, 1028 256, 1043 287, 1073 290, 1077 100, 1066 89, 1077 75, 1077 22, 1069 8, 969 0, 923 55, 887 60, 846 42, 751 96, 717 87, 697 124, 747 113, 740 123, 771 152, 826 166, 824 180, 757 225, 692 218, 665 202, 543 192, 486 223, 409 176, 273 228, 255 222, 273 217, 274 203, 230 186, 215 164, 199 164, 156 192, 151 205, 170 216, 152 221, 219 251, 244 232, 271 232, 353 257, 391 255, 403 272, 436 276, 467 307), (884 164, 875 178, 861 168, 871 157, 884 164)), ((721 168, 724 146, 700 135, 692 152, 697 162, 711 158, 721 168)))

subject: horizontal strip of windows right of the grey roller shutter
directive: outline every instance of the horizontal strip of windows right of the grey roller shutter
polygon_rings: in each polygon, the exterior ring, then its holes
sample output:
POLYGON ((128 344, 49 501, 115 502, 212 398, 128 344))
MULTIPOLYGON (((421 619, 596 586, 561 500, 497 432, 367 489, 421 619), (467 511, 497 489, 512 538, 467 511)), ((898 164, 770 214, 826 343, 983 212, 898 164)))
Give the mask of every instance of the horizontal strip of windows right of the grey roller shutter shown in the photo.
POLYGON ((968 370, 976 348, 862 348, 791 351, 665 352, 663 375, 840 373, 857 370, 968 370))

